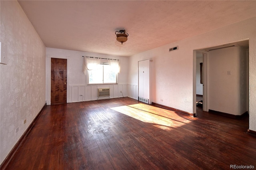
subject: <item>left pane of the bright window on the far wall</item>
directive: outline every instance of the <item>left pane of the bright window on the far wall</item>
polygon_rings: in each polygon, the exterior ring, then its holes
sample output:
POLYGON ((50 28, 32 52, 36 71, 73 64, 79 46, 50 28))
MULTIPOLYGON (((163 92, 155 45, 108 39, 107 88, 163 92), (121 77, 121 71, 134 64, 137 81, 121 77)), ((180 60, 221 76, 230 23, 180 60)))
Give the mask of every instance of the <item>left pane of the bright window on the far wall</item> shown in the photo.
POLYGON ((99 64, 97 68, 89 70, 89 84, 103 83, 103 65, 99 64))

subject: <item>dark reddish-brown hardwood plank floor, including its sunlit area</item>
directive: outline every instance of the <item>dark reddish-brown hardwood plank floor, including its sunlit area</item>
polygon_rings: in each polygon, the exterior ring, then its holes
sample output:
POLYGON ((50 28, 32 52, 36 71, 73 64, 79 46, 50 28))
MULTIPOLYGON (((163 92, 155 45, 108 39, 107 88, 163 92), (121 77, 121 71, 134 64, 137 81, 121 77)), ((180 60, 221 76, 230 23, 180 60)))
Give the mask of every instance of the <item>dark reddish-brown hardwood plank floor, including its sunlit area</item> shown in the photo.
POLYGON ((230 169, 256 167, 248 116, 198 108, 197 117, 128 97, 47 106, 8 170, 230 169))

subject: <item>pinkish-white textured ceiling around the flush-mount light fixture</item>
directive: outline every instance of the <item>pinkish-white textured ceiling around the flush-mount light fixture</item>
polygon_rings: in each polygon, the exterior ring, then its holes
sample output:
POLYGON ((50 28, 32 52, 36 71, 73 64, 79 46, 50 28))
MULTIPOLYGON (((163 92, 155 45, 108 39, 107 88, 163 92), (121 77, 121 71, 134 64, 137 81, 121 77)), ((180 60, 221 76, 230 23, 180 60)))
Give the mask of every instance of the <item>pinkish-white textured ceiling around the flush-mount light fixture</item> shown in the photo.
POLYGON ((256 16, 256 1, 18 1, 46 47, 131 56, 256 16), (116 41, 126 30, 128 41, 116 41))

